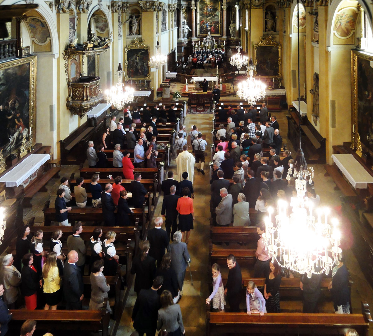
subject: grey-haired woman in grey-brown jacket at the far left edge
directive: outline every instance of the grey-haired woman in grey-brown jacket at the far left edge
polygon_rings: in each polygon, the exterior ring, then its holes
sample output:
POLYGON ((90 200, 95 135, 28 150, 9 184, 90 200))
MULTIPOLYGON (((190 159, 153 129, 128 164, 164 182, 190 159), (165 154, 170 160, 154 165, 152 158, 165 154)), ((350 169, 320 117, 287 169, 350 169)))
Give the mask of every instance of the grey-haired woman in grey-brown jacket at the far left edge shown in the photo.
POLYGON ((21 285, 21 273, 13 265, 13 255, 7 254, 2 261, 0 270, 0 283, 4 285, 4 302, 11 309, 15 309, 16 301, 21 295, 19 285, 21 285))

